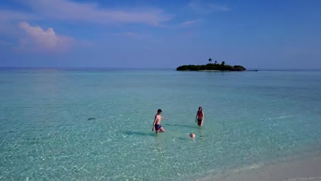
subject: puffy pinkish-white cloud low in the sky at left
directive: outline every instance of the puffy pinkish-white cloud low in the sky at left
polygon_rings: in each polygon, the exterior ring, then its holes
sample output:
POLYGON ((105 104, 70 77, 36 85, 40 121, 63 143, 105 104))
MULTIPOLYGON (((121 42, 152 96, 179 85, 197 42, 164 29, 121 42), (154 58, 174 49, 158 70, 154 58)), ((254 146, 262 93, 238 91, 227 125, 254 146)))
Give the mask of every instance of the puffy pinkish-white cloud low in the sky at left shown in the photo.
POLYGON ((73 38, 58 36, 52 27, 45 30, 39 26, 29 25, 25 21, 19 23, 19 27, 25 32, 19 43, 18 49, 21 51, 56 52, 69 49, 73 45, 73 38))

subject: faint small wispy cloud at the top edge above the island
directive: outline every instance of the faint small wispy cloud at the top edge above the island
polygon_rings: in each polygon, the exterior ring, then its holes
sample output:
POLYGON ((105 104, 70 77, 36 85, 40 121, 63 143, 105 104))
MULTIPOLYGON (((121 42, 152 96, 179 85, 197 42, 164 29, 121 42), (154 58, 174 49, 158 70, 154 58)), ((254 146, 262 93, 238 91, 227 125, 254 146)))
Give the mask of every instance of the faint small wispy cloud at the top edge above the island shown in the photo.
POLYGON ((188 7, 191 10, 194 10, 196 12, 204 13, 204 14, 209 14, 211 12, 219 12, 219 11, 229 11, 231 10, 225 5, 215 5, 215 4, 206 4, 206 3, 201 3, 200 0, 193 0, 189 2, 188 7))

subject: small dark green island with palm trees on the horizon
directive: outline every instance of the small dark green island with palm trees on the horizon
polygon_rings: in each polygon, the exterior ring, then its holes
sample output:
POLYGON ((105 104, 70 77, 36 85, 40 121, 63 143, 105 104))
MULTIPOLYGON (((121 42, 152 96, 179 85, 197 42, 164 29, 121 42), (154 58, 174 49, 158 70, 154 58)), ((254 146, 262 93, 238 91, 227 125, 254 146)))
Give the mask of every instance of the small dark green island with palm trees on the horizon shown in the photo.
POLYGON ((211 63, 212 59, 209 58, 208 64, 203 65, 182 65, 176 68, 176 71, 246 71, 241 65, 230 66, 225 64, 223 61, 221 64, 218 64, 215 60, 215 63, 211 63))

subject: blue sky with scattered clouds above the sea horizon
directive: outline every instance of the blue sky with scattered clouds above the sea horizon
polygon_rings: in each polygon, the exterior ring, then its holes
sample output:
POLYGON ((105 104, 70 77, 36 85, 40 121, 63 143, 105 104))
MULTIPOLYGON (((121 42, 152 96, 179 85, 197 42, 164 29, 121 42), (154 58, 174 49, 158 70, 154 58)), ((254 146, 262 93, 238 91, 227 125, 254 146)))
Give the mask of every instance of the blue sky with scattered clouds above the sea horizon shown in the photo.
POLYGON ((321 69, 319 0, 1 0, 0 67, 321 69))

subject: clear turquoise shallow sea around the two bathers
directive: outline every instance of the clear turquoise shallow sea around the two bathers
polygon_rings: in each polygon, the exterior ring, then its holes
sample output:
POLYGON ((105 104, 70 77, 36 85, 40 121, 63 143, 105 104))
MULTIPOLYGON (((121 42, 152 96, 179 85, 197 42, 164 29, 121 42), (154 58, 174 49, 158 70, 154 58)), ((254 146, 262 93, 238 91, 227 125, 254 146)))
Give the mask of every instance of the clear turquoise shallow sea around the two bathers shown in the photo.
POLYGON ((320 71, 1 69, 0 180, 196 180, 320 149, 320 82, 320 71), (158 108, 169 120, 156 136, 158 108))

